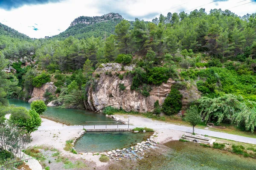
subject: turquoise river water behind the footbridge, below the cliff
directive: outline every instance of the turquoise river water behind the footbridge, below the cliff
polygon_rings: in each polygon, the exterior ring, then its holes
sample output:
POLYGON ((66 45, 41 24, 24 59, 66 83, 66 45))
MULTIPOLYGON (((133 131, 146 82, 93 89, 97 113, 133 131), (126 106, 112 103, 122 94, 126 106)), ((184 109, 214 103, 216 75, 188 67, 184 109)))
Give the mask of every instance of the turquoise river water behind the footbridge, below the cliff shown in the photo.
MULTIPOLYGON (((30 109, 30 103, 21 99, 9 99, 9 103, 10 105, 22 106, 30 109)), ((113 123, 116 123, 114 119, 106 117, 103 113, 95 113, 85 109, 47 107, 47 111, 43 113, 42 117, 51 119, 55 122, 64 123, 66 125, 84 125, 85 122, 94 121, 112 121, 113 123)))

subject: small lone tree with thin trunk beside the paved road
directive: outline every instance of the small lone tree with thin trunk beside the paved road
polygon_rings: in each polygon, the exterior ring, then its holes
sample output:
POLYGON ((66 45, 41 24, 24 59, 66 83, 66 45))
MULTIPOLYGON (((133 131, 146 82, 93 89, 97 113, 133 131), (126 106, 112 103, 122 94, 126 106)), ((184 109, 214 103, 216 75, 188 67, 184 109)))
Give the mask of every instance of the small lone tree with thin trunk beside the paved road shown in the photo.
POLYGON ((201 113, 196 105, 190 106, 186 111, 185 120, 193 126, 193 135, 195 135, 195 126, 202 121, 201 113))

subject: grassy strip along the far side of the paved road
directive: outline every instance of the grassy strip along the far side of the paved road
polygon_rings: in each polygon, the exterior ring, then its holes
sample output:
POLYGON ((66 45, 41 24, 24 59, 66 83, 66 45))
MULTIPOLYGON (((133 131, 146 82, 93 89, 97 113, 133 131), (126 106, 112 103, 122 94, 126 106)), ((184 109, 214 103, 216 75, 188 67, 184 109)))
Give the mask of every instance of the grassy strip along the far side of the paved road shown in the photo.
MULTIPOLYGON (((153 120, 169 122, 169 123, 172 123, 174 125, 191 126, 189 124, 189 122, 184 121, 181 117, 178 117, 176 115, 157 116, 157 115, 153 115, 152 113, 138 113, 138 112, 125 112, 125 111, 118 111, 115 114, 137 115, 137 116, 143 116, 143 117, 153 119, 153 120)), ((196 126, 196 128, 199 128, 199 129, 205 129, 206 127, 208 127, 208 126, 204 122, 202 122, 200 125, 196 126)), ((223 123, 220 124, 220 126, 209 127, 208 130, 212 130, 212 131, 216 131, 216 132, 229 133, 229 134, 239 135, 239 136, 245 136, 245 137, 250 137, 250 138, 256 138, 256 131, 254 133, 251 133, 249 131, 242 131, 236 126, 227 125, 227 124, 223 124, 223 123)))

